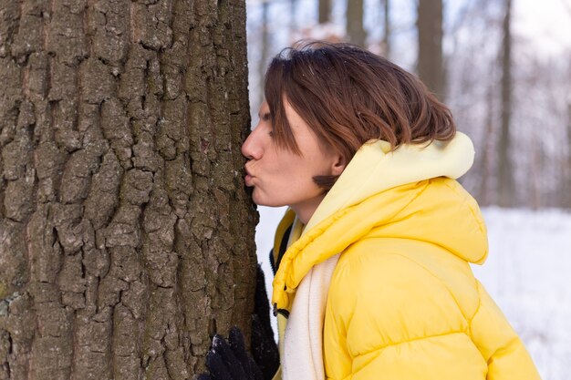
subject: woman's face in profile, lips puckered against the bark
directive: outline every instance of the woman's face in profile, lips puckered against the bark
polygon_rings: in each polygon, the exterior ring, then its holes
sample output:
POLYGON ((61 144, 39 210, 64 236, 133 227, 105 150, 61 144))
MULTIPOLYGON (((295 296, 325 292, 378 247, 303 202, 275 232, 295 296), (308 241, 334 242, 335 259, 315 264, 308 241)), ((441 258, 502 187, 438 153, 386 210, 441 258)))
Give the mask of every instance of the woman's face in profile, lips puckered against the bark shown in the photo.
POLYGON ((266 102, 262 103, 258 124, 242 146, 242 154, 248 159, 245 184, 254 188, 252 196, 256 204, 290 206, 302 221, 307 222, 325 197, 324 190, 317 186, 313 177, 339 175, 345 165, 340 155, 319 143, 288 102, 284 106, 302 154, 276 147, 270 108, 266 102))

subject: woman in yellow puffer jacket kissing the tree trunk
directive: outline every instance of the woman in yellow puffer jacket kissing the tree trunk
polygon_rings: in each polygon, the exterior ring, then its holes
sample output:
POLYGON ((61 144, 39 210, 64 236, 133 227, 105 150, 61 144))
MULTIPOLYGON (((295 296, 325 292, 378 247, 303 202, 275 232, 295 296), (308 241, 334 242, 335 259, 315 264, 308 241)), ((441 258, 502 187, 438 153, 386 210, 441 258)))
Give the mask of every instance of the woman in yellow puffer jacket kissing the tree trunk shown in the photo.
POLYGON ((487 237, 450 110, 386 59, 317 42, 274 58, 265 99, 242 152, 254 201, 289 206, 276 378, 538 379, 472 275, 487 237))

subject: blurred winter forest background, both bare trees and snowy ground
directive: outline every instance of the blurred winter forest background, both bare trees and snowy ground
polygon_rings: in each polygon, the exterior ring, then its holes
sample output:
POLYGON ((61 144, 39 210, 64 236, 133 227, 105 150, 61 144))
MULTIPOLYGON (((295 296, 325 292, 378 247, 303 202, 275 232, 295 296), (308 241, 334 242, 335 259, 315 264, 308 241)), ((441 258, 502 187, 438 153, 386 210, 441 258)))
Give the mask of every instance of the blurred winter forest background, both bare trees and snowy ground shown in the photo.
MULTIPOLYGON (((452 108, 459 130, 476 149, 462 185, 483 206, 489 231, 489 258, 473 271, 524 340, 542 378, 567 379, 571 2, 251 0, 247 5, 254 121, 267 60, 303 38, 367 46, 419 75, 452 108)), ((267 252, 285 210, 258 211, 258 260, 270 272, 267 252)))

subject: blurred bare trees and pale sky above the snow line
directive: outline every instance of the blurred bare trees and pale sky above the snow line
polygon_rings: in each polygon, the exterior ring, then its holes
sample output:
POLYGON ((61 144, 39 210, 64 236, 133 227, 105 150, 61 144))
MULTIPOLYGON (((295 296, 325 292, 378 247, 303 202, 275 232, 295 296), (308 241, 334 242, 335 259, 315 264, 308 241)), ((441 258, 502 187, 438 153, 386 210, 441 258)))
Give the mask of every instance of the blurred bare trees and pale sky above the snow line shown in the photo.
POLYGON ((247 5, 253 109, 266 62, 283 47, 301 38, 367 46, 418 73, 452 108, 458 128, 474 141, 476 162, 462 184, 480 204, 571 207, 568 0, 247 5))

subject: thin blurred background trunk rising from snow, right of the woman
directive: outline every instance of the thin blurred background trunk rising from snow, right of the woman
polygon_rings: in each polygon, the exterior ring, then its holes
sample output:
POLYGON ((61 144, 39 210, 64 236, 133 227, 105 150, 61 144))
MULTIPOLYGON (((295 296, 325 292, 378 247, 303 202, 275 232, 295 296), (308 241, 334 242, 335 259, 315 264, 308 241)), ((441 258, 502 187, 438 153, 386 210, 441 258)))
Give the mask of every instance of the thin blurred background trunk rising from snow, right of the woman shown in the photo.
POLYGON ((498 204, 514 205, 514 166, 510 157, 512 118, 512 0, 504 0, 504 41, 502 56, 502 129, 498 144, 498 204))

